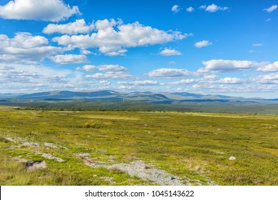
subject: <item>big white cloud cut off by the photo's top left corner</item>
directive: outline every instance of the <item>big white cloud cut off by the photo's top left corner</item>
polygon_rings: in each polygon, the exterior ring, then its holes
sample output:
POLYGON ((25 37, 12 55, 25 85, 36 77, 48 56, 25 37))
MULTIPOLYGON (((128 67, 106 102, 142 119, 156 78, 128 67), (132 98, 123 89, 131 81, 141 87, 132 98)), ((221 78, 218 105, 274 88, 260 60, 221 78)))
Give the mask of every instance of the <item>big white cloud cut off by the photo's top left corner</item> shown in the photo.
POLYGON ((34 19, 62 21, 80 14, 77 6, 69 6, 62 0, 14 0, 0 6, 0 17, 4 19, 34 19))

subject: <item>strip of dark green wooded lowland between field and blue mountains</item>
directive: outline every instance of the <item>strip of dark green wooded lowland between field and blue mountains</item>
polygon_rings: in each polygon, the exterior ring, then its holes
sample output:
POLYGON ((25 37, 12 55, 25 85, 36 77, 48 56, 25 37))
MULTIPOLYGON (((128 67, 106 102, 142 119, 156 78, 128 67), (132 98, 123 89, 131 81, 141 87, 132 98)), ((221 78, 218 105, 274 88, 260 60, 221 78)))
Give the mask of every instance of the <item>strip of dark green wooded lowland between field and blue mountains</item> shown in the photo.
POLYGON ((2 106, 21 106, 27 109, 60 110, 120 110, 120 111, 190 111, 235 114, 278 114, 278 104, 212 105, 192 102, 191 104, 153 104, 144 101, 46 101, 43 99, 0 99, 2 106))

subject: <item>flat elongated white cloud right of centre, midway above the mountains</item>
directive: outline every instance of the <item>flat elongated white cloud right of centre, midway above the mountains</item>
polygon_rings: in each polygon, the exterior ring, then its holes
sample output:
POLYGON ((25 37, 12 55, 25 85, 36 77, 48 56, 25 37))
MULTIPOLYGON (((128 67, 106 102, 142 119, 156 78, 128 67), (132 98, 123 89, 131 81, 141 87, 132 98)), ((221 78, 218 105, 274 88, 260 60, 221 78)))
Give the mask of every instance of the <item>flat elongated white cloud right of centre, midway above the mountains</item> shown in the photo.
POLYGON ((148 76, 153 78, 165 78, 165 79, 177 79, 185 76, 191 76, 192 73, 187 70, 182 69, 172 69, 172 68, 161 68, 161 69, 155 69, 153 71, 150 71, 148 73, 148 76))

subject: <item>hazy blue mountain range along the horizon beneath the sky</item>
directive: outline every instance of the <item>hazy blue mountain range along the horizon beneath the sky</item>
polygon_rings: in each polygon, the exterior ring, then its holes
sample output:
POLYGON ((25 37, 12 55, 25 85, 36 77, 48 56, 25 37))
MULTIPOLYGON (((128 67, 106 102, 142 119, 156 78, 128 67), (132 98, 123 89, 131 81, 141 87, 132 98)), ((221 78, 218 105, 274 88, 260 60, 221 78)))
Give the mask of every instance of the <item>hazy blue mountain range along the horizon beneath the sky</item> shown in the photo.
POLYGON ((41 101, 144 101, 153 104, 197 104, 197 105, 255 105, 277 104, 278 99, 244 98, 224 95, 203 95, 188 92, 133 91, 120 93, 112 90, 102 91, 46 91, 34 94, 0 94, 1 101, 6 99, 37 99, 41 101))

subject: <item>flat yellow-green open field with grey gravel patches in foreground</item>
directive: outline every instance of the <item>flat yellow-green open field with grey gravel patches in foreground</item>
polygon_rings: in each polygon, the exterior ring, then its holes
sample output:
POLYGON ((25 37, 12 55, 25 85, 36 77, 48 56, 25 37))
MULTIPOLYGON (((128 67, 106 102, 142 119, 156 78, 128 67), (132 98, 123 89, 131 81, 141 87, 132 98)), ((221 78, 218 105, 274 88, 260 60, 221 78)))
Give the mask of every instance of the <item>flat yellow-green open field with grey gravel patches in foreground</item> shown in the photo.
POLYGON ((278 185, 278 116, 0 109, 1 185, 278 185))

